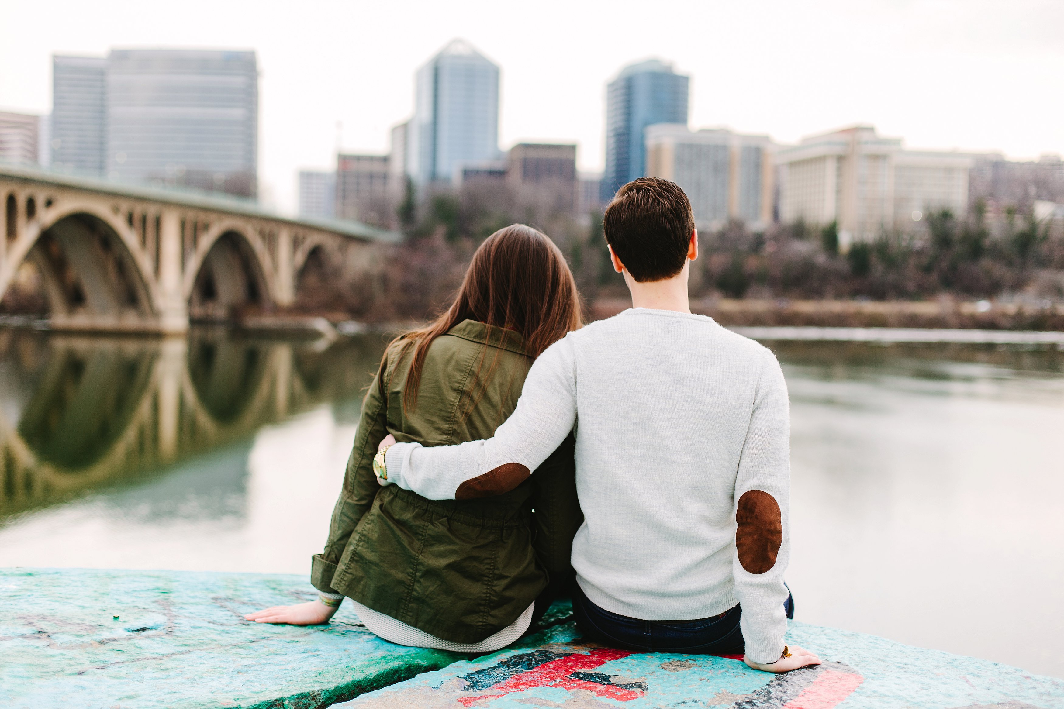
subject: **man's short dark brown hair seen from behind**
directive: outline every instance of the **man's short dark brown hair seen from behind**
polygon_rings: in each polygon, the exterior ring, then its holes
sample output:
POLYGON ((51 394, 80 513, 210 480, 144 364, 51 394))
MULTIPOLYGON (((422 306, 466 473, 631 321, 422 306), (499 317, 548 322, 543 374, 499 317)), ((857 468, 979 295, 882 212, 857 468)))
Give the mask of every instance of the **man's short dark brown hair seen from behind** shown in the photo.
POLYGON ((687 260, 695 215, 675 182, 639 178, 617 190, 605 208, 602 232, 639 283, 671 278, 687 260))

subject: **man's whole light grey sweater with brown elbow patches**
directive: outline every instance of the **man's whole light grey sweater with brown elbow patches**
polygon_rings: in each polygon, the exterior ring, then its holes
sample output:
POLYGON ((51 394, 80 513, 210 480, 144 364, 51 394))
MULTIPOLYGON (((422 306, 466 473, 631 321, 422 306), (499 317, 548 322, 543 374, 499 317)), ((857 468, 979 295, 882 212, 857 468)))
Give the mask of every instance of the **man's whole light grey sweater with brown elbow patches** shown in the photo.
POLYGON ((388 482, 454 499, 466 480, 486 488, 527 475, 573 427, 585 519, 572 567, 587 597, 643 620, 708 618, 738 603, 747 655, 779 659, 789 410, 772 353, 704 316, 625 310, 544 352, 494 438, 398 443, 388 482))

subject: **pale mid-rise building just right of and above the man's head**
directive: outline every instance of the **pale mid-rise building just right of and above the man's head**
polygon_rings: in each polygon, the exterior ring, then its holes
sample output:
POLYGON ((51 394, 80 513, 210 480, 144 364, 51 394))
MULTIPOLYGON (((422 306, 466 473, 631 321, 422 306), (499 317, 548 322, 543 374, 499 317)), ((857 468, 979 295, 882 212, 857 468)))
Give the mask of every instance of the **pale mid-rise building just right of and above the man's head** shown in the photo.
POLYGON ((742 219, 754 229, 772 220, 771 141, 728 130, 691 131, 659 123, 646 130, 647 170, 683 188, 699 229, 742 219))

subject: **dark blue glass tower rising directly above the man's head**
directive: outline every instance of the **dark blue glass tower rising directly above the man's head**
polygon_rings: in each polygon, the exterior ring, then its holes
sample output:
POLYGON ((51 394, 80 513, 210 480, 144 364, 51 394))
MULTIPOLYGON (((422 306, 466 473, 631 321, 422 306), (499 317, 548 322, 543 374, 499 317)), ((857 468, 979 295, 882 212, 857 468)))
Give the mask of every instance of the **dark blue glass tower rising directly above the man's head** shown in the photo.
POLYGON ((687 123, 689 79, 671 64, 649 60, 621 69, 606 90, 602 199, 646 174, 644 131, 654 123, 687 123))

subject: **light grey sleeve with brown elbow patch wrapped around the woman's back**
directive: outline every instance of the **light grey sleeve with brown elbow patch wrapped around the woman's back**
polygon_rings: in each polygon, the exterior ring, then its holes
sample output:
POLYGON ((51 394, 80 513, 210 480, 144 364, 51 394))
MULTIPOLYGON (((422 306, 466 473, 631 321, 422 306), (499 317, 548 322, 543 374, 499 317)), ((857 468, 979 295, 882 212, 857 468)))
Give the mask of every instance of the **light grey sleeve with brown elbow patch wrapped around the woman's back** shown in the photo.
POLYGON ((396 443, 385 456, 387 482, 429 500, 472 500, 513 490, 572 431, 575 369, 570 334, 532 365, 517 407, 493 438, 432 448, 396 443))

